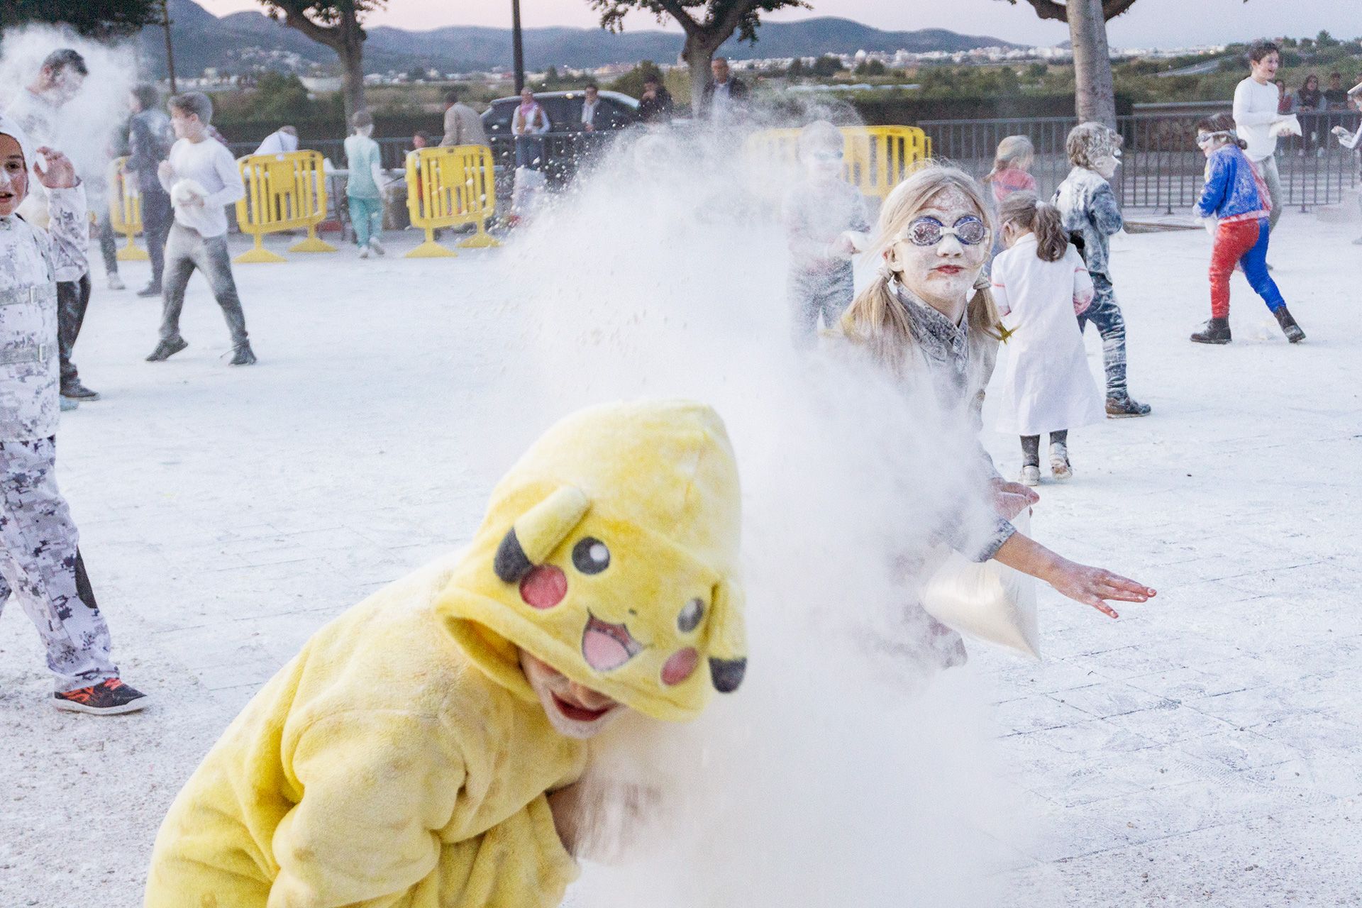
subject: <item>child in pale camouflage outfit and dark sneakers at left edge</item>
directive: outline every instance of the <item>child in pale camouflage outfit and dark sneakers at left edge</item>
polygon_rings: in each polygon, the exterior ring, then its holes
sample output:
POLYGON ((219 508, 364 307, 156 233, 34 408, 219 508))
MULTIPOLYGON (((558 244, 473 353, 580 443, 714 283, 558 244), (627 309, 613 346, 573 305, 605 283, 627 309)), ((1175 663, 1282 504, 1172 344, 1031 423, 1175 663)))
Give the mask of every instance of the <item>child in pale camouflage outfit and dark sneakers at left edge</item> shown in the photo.
POLYGON ((11 594, 37 625, 59 709, 133 712, 146 697, 118 679, 109 628, 86 576, 71 512, 57 490, 57 285, 53 246, 83 246, 84 187, 65 155, 34 148, 0 114, 0 609, 11 594), (38 166, 37 155, 46 161, 38 166), (16 214, 33 174, 50 221, 16 214))

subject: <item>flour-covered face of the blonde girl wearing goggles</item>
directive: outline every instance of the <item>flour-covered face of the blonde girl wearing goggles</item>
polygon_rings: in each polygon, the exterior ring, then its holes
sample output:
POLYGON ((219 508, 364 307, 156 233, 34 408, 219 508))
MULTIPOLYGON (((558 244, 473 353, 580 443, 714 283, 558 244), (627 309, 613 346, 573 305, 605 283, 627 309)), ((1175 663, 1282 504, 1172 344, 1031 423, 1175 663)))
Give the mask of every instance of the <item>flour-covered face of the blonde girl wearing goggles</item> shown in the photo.
MULTIPOLYGON (((885 261, 903 286, 923 302, 957 319, 974 293, 974 282, 989 259, 989 234, 985 230, 978 242, 963 242, 978 236, 972 225, 985 222, 983 212, 960 189, 948 188, 932 196, 906 225, 913 231, 914 222, 930 219, 944 230, 941 238, 929 245, 918 245, 908 236, 900 236, 885 252, 885 261)), ((986 223, 986 222, 985 222, 986 223)), ((918 233, 919 238, 922 233, 918 233)))

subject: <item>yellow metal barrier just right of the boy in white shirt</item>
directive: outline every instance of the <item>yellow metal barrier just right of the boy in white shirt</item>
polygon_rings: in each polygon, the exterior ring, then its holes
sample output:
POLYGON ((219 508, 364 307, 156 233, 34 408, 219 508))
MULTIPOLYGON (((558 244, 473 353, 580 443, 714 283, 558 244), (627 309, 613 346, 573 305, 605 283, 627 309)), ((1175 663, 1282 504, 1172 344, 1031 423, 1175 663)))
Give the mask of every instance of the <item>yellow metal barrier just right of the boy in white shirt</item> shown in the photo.
POLYGON ((306 227, 308 236, 289 252, 335 252, 317 238, 317 225, 327 216, 327 177, 321 152, 290 151, 241 158, 247 195, 237 201, 237 226, 255 237, 255 246, 233 259, 237 263, 287 261, 264 248, 264 234, 306 227))

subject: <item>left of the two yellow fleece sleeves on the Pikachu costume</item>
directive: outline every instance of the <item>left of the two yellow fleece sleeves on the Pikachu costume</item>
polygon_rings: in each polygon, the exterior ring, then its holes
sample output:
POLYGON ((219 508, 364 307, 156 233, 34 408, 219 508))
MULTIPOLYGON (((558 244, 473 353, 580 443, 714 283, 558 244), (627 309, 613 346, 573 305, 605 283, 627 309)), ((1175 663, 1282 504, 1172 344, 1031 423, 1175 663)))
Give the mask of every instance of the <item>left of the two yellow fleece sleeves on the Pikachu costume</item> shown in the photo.
POLYGON ((437 830, 464 776, 437 719, 331 715, 298 735, 286 766, 301 796, 274 833, 268 908, 385 908, 434 882, 437 830))

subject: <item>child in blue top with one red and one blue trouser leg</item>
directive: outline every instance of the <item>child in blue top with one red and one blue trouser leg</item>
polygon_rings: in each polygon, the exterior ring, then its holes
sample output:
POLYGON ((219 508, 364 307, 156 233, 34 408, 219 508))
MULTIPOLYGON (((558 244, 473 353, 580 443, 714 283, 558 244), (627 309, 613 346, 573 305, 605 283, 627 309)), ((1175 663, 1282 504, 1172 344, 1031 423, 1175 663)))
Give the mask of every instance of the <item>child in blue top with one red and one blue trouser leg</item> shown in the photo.
POLYGON ((1246 143, 1234 132, 1229 114, 1197 124, 1197 146, 1205 152, 1205 188, 1197 201, 1201 218, 1216 221, 1211 249, 1211 320, 1193 332, 1196 343, 1230 343, 1230 274, 1244 268, 1249 286, 1276 316, 1287 340, 1305 332, 1287 312, 1282 291, 1268 274, 1268 216, 1272 201, 1263 177, 1244 154, 1246 143))

